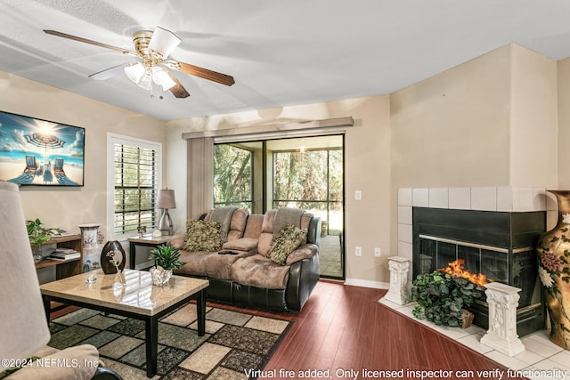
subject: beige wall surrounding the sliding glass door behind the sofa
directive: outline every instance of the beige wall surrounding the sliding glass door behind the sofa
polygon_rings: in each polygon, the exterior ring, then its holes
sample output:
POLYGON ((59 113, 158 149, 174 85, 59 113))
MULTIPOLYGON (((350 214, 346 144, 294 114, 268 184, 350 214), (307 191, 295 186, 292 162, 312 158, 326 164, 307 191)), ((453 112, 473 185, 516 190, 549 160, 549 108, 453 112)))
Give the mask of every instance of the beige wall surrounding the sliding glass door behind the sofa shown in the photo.
MULTIPOLYGON (((240 112, 214 117, 194 117, 168 123, 167 183, 176 191, 172 214, 177 229, 183 228, 186 198, 186 152, 182 133, 225 129, 246 125, 269 125, 292 120, 319 120, 354 117, 354 127, 346 128, 346 279, 365 286, 386 285, 387 256, 390 255, 390 135, 389 98, 377 96, 347 101, 330 101, 240 112), (362 200, 354 200, 354 190, 362 200), (362 247, 362 256, 354 247, 362 247), (374 247, 382 256, 375 258, 374 247), (382 284, 380 284, 382 283, 382 284)), ((394 255, 394 254, 393 254, 394 255)))

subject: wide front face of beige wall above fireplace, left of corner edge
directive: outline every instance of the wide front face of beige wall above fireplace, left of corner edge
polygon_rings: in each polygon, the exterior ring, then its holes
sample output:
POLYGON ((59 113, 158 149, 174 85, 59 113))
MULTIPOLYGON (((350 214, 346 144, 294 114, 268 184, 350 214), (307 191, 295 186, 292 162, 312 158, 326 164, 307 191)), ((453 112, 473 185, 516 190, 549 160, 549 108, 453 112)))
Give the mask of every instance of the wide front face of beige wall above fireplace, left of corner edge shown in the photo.
POLYGON ((390 95, 395 189, 509 184, 509 52, 390 95))

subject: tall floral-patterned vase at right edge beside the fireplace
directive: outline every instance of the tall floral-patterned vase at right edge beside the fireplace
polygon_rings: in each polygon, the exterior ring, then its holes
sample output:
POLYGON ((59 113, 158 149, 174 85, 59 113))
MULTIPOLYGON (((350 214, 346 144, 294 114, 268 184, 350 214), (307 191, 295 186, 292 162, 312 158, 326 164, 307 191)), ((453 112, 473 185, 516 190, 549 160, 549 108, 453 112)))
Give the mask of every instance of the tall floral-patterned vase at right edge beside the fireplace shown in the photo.
POLYGON ((570 350, 570 190, 548 190, 558 202, 558 223, 538 240, 538 273, 550 315, 550 341, 570 350))

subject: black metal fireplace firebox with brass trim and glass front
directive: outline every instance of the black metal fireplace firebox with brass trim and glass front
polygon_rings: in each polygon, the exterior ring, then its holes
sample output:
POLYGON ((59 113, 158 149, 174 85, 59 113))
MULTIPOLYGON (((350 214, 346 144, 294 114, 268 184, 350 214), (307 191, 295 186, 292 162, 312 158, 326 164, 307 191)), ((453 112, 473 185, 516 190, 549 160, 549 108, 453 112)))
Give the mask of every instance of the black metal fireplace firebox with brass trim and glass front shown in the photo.
MULTIPOLYGON (((413 207, 412 213, 414 278, 462 259, 464 269, 471 273, 521 288, 517 308, 519 336, 544 327, 535 245, 545 230, 545 212, 413 207)), ((477 301, 470 311, 475 314, 474 324, 489 327, 485 299, 477 301)))

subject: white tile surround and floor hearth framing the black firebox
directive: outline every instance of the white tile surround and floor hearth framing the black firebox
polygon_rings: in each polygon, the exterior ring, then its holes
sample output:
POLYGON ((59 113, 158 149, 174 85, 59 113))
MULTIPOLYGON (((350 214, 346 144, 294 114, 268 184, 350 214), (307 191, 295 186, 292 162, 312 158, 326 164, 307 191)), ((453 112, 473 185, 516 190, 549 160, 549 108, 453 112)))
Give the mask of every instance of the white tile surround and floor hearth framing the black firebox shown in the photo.
MULTIPOLYGON (((412 207, 446 208, 457 210, 478 210, 498 212, 546 211, 546 230, 552 229, 558 221, 556 198, 545 188, 477 187, 477 188, 405 188, 398 190, 398 255, 413 260, 412 207)), ((408 285, 411 285, 412 271, 408 272, 408 285)), ((408 287, 409 288, 409 287, 408 287)), ((380 301, 395 311, 411 319, 413 304, 398 305, 380 301)), ((418 319, 415 319, 418 320, 418 319)), ((565 379, 570 378, 570 352, 552 344, 548 330, 539 330, 522 338, 525 352, 509 357, 479 343, 485 330, 472 326, 468 329, 436 327, 427 321, 419 321, 435 328, 445 336, 456 339, 477 352, 496 360, 512 369, 562 368, 567 370, 565 379)), ((534 379, 538 377, 530 376, 534 379)))

